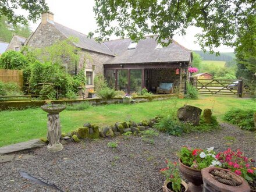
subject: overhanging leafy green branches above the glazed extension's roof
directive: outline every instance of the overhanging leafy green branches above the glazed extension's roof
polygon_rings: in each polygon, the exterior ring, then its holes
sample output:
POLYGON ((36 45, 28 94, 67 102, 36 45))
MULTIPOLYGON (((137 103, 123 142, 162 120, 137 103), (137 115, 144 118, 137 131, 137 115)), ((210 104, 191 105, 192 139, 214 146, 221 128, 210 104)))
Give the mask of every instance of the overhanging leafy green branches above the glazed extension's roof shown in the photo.
MULTIPOLYGON (((98 41, 115 34, 138 41, 145 34, 159 34, 158 42, 186 33, 189 26, 202 29, 197 34, 202 49, 213 52, 220 45, 235 45, 239 29, 250 32, 248 17, 255 14, 254 0, 96 0, 94 13, 98 41)), ((90 33, 90 37, 93 33, 90 33)), ((162 43, 163 45, 166 45, 162 43)))

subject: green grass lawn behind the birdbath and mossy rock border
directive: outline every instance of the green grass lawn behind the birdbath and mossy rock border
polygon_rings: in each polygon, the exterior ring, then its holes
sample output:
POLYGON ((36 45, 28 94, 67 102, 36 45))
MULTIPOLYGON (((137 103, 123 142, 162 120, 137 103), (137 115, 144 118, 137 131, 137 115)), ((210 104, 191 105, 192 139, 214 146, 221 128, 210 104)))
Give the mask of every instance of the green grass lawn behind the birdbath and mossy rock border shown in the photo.
MULTIPOLYGON (((112 104, 90 106, 85 111, 61 112, 62 132, 77 129, 84 123, 97 123, 99 126, 113 125, 115 122, 134 120, 140 122, 156 115, 168 113, 171 109, 184 104, 198 106, 201 109, 210 108, 219 120, 231 108, 255 108, 255 101, 236 97, 200 96, 200 99, 177 99, 165 101, 144 102, 133 105, 112 104)), ((0 112, 0 147, 19 143, 33 138, 45 137, 47 133, 47 113, 40 108, 22 111, 0 112)))

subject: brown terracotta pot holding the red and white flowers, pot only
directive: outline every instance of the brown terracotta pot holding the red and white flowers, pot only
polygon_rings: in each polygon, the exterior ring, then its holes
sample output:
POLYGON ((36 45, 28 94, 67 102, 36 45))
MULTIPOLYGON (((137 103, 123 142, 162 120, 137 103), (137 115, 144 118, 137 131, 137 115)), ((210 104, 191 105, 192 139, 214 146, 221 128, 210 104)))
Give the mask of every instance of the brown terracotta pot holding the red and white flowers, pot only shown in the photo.
POLYGON ((186 166, 182 163, 181 159, 179 159, 180 164, 180 172, 182 175, 191 183, 188 184, 189 190, 191 192, 202 191, 202 174, 201 170, 190 168, 189 166, 186 166))

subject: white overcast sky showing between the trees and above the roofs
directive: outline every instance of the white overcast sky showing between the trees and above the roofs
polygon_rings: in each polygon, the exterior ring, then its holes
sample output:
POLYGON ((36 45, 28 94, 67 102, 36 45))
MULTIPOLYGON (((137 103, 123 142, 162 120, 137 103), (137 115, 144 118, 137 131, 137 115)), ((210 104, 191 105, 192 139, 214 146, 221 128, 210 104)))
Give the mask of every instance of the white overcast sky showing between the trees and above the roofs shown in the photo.
MULTIPOLYGON (((46 2, 48 3, 49 10, 54 13, 55 22, 84 34, 97 29, 93 12, 94 0, 46 0, 46 2)), ((37 29, 40 22, 40 20, 37 23, 30 22, 31 29, 33 31, 37 29)), ((173 39, 186 48, 200 50, 200 46, 194 43, 196 41, 194 35, 198 32, 200 32, 200 29, 190 27, 185 36, 175 35, 173 39)), ((223 46, 215 49, 215 51, 233 52, 233 49, 223 46)))

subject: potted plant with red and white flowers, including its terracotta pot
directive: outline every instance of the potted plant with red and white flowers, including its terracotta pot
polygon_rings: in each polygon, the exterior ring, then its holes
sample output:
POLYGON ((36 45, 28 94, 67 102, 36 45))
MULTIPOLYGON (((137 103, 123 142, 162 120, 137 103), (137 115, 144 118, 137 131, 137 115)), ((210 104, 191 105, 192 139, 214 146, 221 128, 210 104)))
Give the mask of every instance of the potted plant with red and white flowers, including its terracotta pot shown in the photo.
POLYGON ((214 147, 202 150, 200 148, 182 147, 179 155, 180 172, 189 182, 190 191, 202 190, 201 169, 208 166, 221 166, 221 162, 216 160, 214 147))

